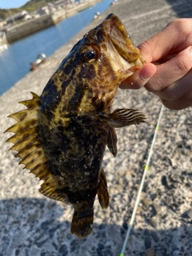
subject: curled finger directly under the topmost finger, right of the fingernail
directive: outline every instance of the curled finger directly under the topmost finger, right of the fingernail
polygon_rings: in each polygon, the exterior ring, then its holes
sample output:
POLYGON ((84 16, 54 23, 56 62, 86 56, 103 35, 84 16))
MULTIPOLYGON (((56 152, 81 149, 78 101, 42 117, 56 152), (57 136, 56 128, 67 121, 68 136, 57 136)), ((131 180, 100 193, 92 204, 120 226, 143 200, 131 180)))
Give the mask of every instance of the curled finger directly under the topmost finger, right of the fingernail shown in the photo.
MULTIPOLYGON (((177 95, 181 87, 180 83, 176 83, 183 78, 192 68, 192 46, 186 48, 170 61, 157 66, 157 71, 149 82, 146 83, 146 90, 153 93, 159 93, 163 98, 163 94, 169 90, 173 90, 177 95), (170 86, 172 85, 172 86, 170 86), (164 90, 167 87, 167 91, 164 90), (161 92, 164 90, 163 92, 161 92)), ((173 94, 174 97, 174 94, 173 94)), ((166 99, 166 98, 165 98, 166 99)))

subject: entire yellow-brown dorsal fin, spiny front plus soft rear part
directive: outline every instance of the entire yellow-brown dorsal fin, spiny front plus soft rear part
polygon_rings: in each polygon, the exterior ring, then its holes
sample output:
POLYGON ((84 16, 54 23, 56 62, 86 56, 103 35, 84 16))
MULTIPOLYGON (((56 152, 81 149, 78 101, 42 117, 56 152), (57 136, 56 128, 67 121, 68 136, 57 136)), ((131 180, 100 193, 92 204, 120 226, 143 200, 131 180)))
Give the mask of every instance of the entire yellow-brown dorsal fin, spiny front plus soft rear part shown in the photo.
POLYGON ((50 174, 46 155, 38 135, 38 111, 41 104, 37 94, 31 93, 33 98, 19 102, 26 106, 26 110, 10 114, 17 122, 8 128, 5 133, 13 132, 14 135, 6 140, 14 146, 10 150, 18 151, 16 158, 21 158, 19 164, 25 165, 40 180, 44 180, 39 191, 46 197, 67 203, 66 194, 60 193, 54 176, 50 174))

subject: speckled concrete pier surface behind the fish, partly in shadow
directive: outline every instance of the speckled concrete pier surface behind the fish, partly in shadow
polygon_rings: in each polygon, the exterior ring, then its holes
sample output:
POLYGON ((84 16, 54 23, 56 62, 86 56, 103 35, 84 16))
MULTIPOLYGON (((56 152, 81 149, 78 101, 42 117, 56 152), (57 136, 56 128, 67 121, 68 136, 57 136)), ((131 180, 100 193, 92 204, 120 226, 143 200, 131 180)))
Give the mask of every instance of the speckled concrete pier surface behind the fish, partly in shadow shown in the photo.
MULTIPOLYGON (((94 231, 86 239, 70 234, 73 209, 45 198, 40 183, 28 170, 18 166, 3 134, 14 120, 6 118, 30 98, 30 90, 41 94, 55 68, 74 42, 96 23, 114 12, 122 19, 137 44, 150 37, 175 17, 192 17, 191 0, 121 0, 97 21, 87 26, 56 51, 41 69, 26 75, 0 97, 0 255, 2 256, 116 256, 134 208, 138 187, 146 164, 161 102, 146 90, 119 90, 114 108, 142 110, 148 124, 118 129, 118 155, 106 150, 103 166, 110 190, 110 206, 94 205, 94 231)), ((154 146, 150 169, 142 192, 125 255, 192 255, 192 130, 190 108, 165 108, 154 146)))

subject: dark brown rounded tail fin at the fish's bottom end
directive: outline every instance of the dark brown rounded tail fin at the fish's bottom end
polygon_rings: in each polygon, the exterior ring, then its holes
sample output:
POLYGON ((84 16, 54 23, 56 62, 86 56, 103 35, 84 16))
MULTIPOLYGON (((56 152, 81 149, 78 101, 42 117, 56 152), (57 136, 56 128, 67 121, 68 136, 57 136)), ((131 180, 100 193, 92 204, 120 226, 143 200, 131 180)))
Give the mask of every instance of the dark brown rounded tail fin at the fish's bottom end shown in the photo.
POLYGON ((94 208, 87 209, 87 202, 74 204, 74 216, 70 226, 70 233, 77 238, 86 238, 92 232, 94 222, 94 208))

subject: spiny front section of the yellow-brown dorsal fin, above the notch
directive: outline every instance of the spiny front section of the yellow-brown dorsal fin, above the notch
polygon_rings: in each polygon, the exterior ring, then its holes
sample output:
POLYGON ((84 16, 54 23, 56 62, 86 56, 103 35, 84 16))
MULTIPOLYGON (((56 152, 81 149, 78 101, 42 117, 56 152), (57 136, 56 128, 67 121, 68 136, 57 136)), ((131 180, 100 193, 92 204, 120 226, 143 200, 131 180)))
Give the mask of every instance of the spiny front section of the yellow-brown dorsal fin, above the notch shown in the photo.
POLYGON ((45 166, 46 156, 38 138, 38 111, 40 100, 37 94, 31 94, 33 96, 32 99, 19 102, 26 106, 26 110, 21 110, 8 116, 9 118, 14 118, 17 122, 5 131, 5 133, 14 133, 6 142, 14 144, 14 146, 10 147, 10 150, 18 151, 15 157, 22 159, 19 164, 24 164, 24 168, 29 169, 36 177, 42 179, 41 166, 43 165, 44 168, 46 168, 44 172, 46 170, 47 174, 49 171, 48 166, 45 166), (38 170, 36 168, 34 172, 33 169, 37 166, 38 170))

